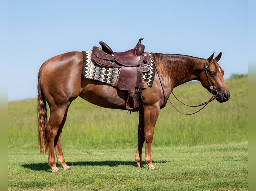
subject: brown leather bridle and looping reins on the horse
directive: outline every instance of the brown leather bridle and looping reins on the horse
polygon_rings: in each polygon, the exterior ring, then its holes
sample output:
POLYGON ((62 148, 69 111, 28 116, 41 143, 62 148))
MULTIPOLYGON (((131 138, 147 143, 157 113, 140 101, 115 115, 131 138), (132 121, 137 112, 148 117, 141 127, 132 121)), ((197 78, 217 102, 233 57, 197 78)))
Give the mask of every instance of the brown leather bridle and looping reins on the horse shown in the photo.
MULTIPOLYGON (((150 57, 150 58, 152 59, 152 57, 150 57)), ((152 59, 152 60, 153 60, 153 59, 152 59)), ((154 62, 154 60, 153 60, 153 62, 154 62)), ((154 64, 155 64, 155 62, 154 62, 154 64)), ((211 94, 212 94, 212 97, 211 97, 208 101, 206 101, 206 102, 204 102, 204 103, 201 103, 201 104, 199 104, 199 105, 191 106, 191 105, 187 105, 187 104, 183 103, 182 101, 180 101, 180 100, 173 94, 173 92, 171 92, 171 94, 172 94, 180 103, 182 103, 182 104, 184 104, 184 105, 186 105, 186 106, 189 106, 189 107, 199 107, 199 106, 202 106, 202 105, 203 105, 202 108, 200 108, 198 111, 193 112, 193 113, 183 113, 183 112, 179 111, 179 110, 172 104, 172 102, 170 101, 170 99, 168 98, 168 96, 166 95, 166 93, 164 92, 164 89, 163 89, 163 86, 162 86, 162 82, 161 82, 161 80, 160 80, 160 76, 159 76, 157 67, 155 67, 156 73, 157 73, 157 75, 158 75, 158 77, 159 77, 159 81, 160 81, 160 84, 161 84, 161 87, 162 87, 162 90, 163 90, 163 94, 164 94, 163 99, 165 100, 165 96, 166 96, 167 99, 168 99, 168 101, 169 101, 169 102, 171 103, 171 105, 173 106, 173 108, 174 108, 176 111, 178 111, 179 113, 184 114, 184 115, 192 115, 192 114, 195 114, 195 113, 201 111, 209 102, 211 102, 212 100, 214 100, 214 99, 217 97, 217 95, 218 95, 217 90, 214 90, 213 85, 211 84, 211 81, 210 81, 210 78, 209 78, 209 75, 208 75, 208 71, 207 71, 207 68, 208 68, 209 66, 211 66, 212 64, 213 64, 213 60, 212 60, 212 62, 211 62, 209 65, 206 65, 206 60, 205 60, 205 74, 206 74, 206 77, 207 77, 207 80, 208 80, 208 83, 209 83, 209 86, 210 86, 210 89, 211 89, 211 94), (215 95, 215 94, 216 94, 216 95, 215 95)), ((156 66, 156 64, 155 64, 155 66, 156 66)), ((165 101, 164 101, 164 102, 165 102, 165 101)))

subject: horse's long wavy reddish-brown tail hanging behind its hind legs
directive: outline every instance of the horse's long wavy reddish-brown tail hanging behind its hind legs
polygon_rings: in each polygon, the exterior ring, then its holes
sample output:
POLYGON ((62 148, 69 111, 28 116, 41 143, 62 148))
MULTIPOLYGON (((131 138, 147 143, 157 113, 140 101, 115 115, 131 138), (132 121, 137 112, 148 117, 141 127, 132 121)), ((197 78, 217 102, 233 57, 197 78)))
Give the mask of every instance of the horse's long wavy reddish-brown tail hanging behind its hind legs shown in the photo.
POLYGON ((47 144, 46 144, 46 138, 45 138, 45 129, 47 126, 47 108, 46 108, 45 97, 41 89, 42 68, 43 66, 41 66, 38 72, 38 84, 37 84, 38 143, 40 147, 40 152, 45 154, 47 151, 47 144))

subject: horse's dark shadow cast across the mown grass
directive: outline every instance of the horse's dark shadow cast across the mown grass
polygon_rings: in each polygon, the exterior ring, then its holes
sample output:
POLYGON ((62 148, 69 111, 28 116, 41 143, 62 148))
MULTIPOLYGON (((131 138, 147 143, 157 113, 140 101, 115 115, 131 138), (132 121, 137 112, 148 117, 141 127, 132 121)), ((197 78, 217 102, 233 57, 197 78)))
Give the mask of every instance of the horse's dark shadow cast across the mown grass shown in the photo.
MULTIPOLYGON (((165 163, 166 161, 154 161, 155 163, 165 163)), ((105 160, 105 161, 77 161, 77 162, 67 162, 67 164, 72 168, 72 166, 110 166, 116 167, 118 165, 127 165, 136 167, 134 161, 121 161, 121 160, 105 160)), ((21 167, 28 168, 35 171, 50 171, 47 163, 29 163, 22 164, 21 167)))

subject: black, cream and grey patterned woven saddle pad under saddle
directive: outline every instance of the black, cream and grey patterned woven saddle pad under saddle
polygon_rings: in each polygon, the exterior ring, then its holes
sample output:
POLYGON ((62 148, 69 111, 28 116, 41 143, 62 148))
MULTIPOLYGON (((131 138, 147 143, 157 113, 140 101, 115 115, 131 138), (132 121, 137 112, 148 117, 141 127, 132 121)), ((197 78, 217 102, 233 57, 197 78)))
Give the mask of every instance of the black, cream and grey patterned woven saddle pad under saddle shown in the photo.
MULTIPOLYGON (((106 84, 113 84, 118 80, 121 68, 110 68, 97 64, 91 59, 91 51, 83 51, 84 63, 82 75, 91 80, 97 80, 106 84)), ((150 57, 154 59, 153 53, 149 53, 150 57)), ((147 73, 143 74, 143 80, 148 87, 153 85, 155 77, 155 65, 151 60, 151 68, 147 73)))

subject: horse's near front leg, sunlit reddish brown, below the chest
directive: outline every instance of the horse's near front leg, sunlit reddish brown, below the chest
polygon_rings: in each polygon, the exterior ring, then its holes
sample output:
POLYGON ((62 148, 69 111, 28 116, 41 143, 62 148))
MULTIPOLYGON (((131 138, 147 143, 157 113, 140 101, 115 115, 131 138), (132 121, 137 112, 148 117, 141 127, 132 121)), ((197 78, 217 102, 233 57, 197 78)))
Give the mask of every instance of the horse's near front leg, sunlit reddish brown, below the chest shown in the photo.
POLYGON ((159 111, 160 107, 157 105, 145 106, 144 108, 144 136, 146 140, 145 162, 147 163, 149 169, 155 169, 151 158, 151 144, 159 111))

